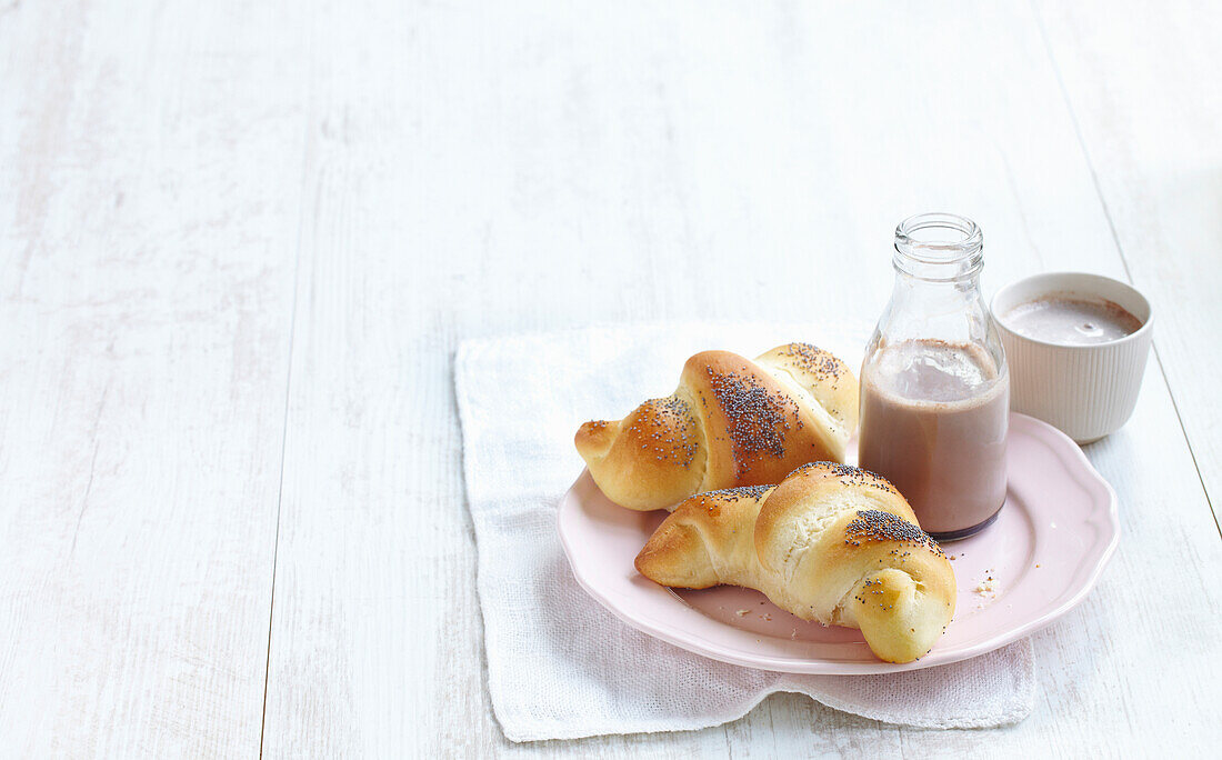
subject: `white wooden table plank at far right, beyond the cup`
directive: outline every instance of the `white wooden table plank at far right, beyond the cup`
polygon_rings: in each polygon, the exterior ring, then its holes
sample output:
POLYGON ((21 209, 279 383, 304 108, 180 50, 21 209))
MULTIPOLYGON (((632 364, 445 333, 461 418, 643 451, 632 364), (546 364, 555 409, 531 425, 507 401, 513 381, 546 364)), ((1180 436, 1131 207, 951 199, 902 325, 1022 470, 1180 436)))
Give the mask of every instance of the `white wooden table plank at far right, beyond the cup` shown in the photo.
POLYGON ((1222 4, 1041 2, 1117 248, 1154 299, 1157 352, 1222 522, 1222 4))

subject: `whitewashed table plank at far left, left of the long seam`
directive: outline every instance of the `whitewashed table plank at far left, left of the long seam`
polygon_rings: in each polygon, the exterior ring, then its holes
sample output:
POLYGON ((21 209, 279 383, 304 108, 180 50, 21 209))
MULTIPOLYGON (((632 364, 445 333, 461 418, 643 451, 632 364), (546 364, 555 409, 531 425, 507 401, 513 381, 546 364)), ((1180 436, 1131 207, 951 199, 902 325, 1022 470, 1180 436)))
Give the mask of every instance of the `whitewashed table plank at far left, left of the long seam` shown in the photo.
POLYGON ((303 130, 198 10, 0 9, 4 755, 259 748, 303 130))

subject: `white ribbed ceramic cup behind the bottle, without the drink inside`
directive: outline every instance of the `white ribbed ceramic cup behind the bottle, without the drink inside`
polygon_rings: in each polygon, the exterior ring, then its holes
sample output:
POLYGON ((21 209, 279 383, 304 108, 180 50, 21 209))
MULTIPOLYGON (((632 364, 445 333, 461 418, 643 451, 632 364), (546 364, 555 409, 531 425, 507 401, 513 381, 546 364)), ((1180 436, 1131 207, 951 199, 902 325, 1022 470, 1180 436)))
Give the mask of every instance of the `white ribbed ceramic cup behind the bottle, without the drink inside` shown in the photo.
POLYGON ((1011 409, 1042 419, 1079 444, 1097 441, 1128 422, 1154 337, 1154 310, 1145 296, 1100 275, 1048 272, 997 291, 992 315, 1009 365, 1011 409), (1141 327, 1106 343, 1066 346, 1006 325, 1014 307, 1041 296, 1106 298, 1136 316, 1141 327))

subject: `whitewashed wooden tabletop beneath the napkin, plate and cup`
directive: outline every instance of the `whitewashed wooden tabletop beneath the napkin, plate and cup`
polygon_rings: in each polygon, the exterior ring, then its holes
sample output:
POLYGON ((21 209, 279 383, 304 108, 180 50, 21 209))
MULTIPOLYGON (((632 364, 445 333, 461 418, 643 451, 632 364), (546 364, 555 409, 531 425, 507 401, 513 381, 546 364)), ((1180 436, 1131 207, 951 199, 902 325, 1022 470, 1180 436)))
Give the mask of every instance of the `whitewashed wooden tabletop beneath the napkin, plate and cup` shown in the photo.
POLYGON ((0 4, 2 753, 1216 747, 1220 37, 1212 1, 0 4), (1079 269, 1157 313, 1134 418, 1086 448, 1121 549, 1035 637, 1035 712, 775 695, 506 742, 457 342, 873 320, 895 222, 935 209, 982 225, 990 293, 1079 269))

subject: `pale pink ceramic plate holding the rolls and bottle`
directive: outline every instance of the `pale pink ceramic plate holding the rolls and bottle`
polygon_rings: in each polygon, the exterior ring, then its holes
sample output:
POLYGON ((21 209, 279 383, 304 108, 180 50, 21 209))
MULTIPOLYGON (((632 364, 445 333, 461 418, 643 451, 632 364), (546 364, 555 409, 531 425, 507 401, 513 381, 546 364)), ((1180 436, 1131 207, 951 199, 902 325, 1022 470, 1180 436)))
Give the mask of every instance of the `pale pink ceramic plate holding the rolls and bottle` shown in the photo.
POLYGON ((622 621, 676 646, 791 673, 881 673, 967 660, 1028 635, 1078 605, 1116 550, 1116 492, 1063 433, 1023 414, 1009 424, 1009 491, 997 522, 947 544, 959 584, 954 619, 934 650, 892 665, 860 632, 802 621, 732 586, 672 591, 633 560, 665 512, 612 503, 583 473, 560 502, 573 574, 622 621), (979 590, 992 578, 992 591, 979 590))

